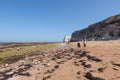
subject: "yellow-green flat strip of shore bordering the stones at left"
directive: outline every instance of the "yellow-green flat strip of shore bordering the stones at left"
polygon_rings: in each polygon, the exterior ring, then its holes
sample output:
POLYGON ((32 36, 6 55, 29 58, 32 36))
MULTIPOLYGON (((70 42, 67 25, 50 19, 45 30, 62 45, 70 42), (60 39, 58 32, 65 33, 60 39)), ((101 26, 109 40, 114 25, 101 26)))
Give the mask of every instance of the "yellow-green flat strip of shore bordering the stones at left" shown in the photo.
POLYGON ((16 46, 12 48, 1 49, 0 52, 0 66, 6 63, 13 63, 23 59, 26 55, 34 55, 35 52, 46 50, 47 48, 57 46, 56 43, 34 44, 28 46, 16 46), (17 52, 17 48, 20 50, 17 52))

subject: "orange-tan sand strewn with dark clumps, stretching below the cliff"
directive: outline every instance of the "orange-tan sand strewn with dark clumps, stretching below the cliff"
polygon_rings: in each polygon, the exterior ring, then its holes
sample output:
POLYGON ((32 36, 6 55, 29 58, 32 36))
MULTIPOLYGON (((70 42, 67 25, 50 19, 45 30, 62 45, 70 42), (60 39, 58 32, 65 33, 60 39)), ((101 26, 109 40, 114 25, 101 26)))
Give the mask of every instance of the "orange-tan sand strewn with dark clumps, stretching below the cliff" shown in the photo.
POLYGON ((85 49, 86 55, 83 54, 83 47, 77 48, 76 42, 67 45, 75 51, 64 50, 63 46, 65 45, 62 45, 61 49, 58 47, 55 48, 56 50, 50 50, 42 63, 27 70, 31 76, 16 75, 8 80, 120 80, 119 40, 88 41, 85 49), (64 53, 61 53, 61 58, 51 60, 60 52, 64 53), (91 57, 102 61, 95 61, 91 57), (44 66, 43 63, 49 63, 49 65, 44 66))

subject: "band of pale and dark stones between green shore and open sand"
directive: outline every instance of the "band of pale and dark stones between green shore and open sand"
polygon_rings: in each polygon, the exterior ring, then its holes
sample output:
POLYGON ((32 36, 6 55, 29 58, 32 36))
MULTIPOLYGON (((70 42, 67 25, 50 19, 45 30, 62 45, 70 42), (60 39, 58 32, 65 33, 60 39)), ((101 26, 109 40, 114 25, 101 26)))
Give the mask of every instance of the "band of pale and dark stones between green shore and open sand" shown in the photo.
MULTIPOLYGON (((64 62, 64 60, 57 61, 57 59, 64 58, 64 53, 70 52, 69 50, 69 47, 59 46, 55 50, 51 49, 42 52, 36 52, 34 53, 35 55, 26 56, 25 59, 19 60, 16 62, 16 64, 6 64, 4 68, 0 69, 0 80, 8 80, 9 78, 18 75, 31 76, 31 73, 27 71, 28 69, 34 67, 34 65, 39 64, 43 65, 44 67, 49 67, 51 65, 49 63, 50 61, 55 61, 57 64, 54 65, 53 69, 45 71, 44 74, 53 73, 56 69, 59 68, 59 64, 64 62)), ((48 78, 50 78, 50 75, 43 77, 43 80, 48 78)))

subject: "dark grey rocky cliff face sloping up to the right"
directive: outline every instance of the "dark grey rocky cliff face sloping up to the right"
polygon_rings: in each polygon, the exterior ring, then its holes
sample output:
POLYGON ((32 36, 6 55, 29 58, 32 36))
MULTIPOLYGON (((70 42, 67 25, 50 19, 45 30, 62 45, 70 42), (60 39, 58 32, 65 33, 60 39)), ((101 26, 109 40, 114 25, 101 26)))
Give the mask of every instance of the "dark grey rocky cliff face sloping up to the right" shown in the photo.
POLYGON ((71 40, 112 40, 120 38, 120 14, 72 33, 71 40))

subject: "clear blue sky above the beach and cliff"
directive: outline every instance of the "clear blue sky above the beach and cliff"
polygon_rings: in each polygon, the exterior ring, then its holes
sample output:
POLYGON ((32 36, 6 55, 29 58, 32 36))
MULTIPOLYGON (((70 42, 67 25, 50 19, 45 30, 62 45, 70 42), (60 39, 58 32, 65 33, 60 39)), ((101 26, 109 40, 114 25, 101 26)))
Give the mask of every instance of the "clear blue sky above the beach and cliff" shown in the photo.
POLYGON ((0 42, 62 41, 120 13, 120 0, 0 0, 0 42))

